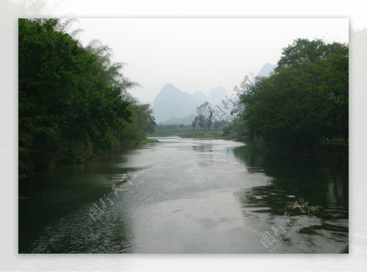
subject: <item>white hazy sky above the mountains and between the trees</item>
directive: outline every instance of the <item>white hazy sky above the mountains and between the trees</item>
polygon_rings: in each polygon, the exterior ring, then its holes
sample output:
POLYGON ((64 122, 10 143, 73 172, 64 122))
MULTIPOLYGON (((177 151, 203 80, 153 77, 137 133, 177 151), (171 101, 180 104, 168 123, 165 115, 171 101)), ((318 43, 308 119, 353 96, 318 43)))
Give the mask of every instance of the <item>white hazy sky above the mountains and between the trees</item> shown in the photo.
POLYGON ((123 73, 153 102, 163 85, 193 93, 221 85, 229 94, 250 71, 276 64, 295 38, 348 43, 348 19, 79 19, 83 45, 98 39, 123 61, 123 73))

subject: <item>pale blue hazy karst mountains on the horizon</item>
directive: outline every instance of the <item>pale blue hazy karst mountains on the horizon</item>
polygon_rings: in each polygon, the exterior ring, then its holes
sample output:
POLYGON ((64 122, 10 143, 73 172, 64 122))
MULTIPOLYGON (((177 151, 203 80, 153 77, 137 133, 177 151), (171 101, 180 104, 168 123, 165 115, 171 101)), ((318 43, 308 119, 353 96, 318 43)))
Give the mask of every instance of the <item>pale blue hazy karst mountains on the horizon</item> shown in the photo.
MULTIPOLYGON (((266 63, 259 71, 258 76, 269 76, 276 65, 266 63)), ((232 90, 231 90, 232 93, 232 90)), ((153 100, 152 109, 156 122, 170 122, 172 120, 193 119, 196 107, 204 102, 209 102, 214 108, 216 105, 226 114, 230 113, 233 103, 236 103, 238 96, 228 96, 225 89, 221 86, 214 87, 210 90, 209 96, 201 91, 193 94, 183 92, 176 88, 173 84, 168 83, 163 86, 156 98, 153 100), (227 109, 226 109, 227 108, 227 109)), ((179 121, 178 121, 179 122, 179 121)))

